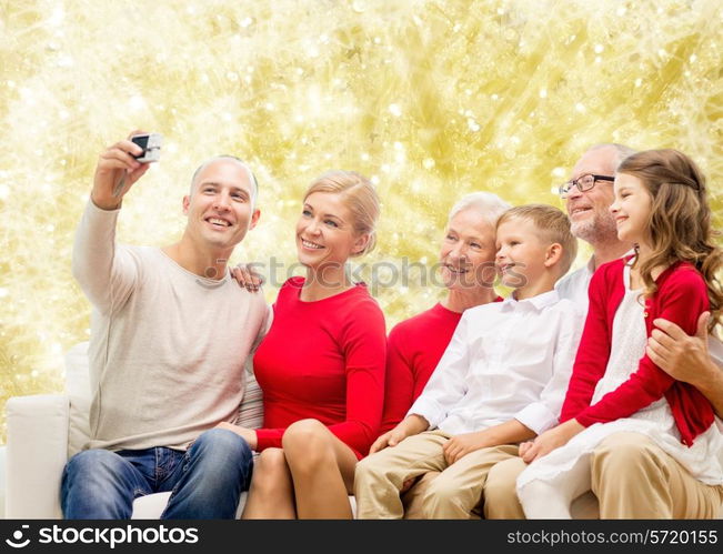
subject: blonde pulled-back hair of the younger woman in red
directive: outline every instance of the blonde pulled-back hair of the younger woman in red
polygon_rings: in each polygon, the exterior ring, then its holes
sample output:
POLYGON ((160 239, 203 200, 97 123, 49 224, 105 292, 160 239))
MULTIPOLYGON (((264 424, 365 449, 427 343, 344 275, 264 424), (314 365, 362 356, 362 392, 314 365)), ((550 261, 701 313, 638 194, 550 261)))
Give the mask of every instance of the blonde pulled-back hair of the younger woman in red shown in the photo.
POLYGON ((343 194, 344 203, 352 214, 354 232, 358 235, 369 235, 364 249, 351 255, 359 256, 371 252, 376 244, 374 226, 380 210, 379 197, 371 181, 355 171, 332 170, 314 179, 307 189, 304 201, 314 192, 343 194))

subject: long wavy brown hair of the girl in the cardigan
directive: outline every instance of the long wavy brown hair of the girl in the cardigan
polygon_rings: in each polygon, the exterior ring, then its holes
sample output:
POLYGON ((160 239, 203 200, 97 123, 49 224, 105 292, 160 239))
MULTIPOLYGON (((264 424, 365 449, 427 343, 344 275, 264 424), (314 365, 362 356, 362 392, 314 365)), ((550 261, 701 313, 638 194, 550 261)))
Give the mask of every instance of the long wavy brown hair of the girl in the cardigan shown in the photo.
POLYGON ((637 152, 620 164, 617 173, 640 179, 652 197, 647 228, 653 252, 639 269, 645 295, 657 291, 654 268, 667 268, 679 260, 690 262, 707 286, 712 331, 723 308, 723 290, 716 276, 723 252, 714 243, 720 233, 711 228, 705 177, 693 160, 672 149, 637 152))

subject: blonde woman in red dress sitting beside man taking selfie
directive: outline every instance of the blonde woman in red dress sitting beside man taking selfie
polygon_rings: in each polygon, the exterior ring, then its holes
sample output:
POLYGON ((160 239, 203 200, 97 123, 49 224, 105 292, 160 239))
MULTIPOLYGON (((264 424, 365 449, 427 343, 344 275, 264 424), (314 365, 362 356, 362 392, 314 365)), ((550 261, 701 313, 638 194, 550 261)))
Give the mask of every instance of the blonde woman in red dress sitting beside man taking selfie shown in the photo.
POLYGON ((345 265, 374 244, 379 200, 362 175, 332 171, 307 190, 289 279, 253 357, 263 429, 230 425, 260 452, 243 518, 351 518, 357 461, 379 434, 385 325, 345 265))

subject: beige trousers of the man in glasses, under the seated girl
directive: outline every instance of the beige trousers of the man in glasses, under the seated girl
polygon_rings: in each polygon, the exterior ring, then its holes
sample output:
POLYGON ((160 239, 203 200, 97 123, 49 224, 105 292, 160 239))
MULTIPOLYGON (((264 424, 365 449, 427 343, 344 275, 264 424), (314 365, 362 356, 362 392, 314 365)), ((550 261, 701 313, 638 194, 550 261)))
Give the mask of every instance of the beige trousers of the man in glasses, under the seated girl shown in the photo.
MULTIPOLYGON (((484 490, 486 518, 524 518, 515 485, 525 467, 516 457, 490 471, 484 490)), ((592 493, 603 520, 714 518, 723 503, 723 486, 701 483, 639 433, 616 433, 600 443, 591 472, 592 493)), ((573 503, 573 517, 595 515, 595 506, 585 500, 581 496, 573 503)))

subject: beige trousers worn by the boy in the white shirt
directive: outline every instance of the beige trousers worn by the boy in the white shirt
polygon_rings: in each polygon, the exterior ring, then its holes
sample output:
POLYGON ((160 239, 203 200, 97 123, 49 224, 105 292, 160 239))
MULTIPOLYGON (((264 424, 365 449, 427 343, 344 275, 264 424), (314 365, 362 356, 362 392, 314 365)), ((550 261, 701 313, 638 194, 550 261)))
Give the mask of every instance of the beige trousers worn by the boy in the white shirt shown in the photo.
POLYGON ((516 456, 518 446, 479 450, 448 465, 442 446, 449 437, 441 431, 428 431, 410 436, 399 445, 384 449, 357 464, 357 516, 401 518, 404 505, 400 491, 404 481, 439 472, 436 479, 422 480, 425 490, 421 497, 421 517, 474 518, 472 512, 484 494, 488 473, 498 463, 516 456))

